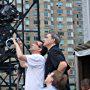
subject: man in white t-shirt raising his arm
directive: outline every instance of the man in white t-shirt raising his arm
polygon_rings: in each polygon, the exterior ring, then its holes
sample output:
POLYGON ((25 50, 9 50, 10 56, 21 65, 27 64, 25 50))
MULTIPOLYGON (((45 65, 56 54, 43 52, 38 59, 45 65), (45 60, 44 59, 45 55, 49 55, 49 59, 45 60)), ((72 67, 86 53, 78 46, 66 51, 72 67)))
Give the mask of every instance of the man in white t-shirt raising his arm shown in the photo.
POLYGON ((25 90, 43 88, 45 59, 41 55, 42 47, 37 42, 31 44, 31 55, 23 55, 19 44, 13 39, 20 65, 26 67, 25 90))

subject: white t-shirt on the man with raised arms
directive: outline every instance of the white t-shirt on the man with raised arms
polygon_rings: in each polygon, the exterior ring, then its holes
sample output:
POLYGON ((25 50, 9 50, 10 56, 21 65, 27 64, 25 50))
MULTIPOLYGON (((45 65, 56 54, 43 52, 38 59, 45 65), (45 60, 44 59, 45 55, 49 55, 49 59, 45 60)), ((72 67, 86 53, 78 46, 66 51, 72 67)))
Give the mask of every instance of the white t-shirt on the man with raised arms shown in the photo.
POLYGON ((45 58, 40 54, 26 55, 27 70, 25 90, 40 90, 43 87, 45 58))

